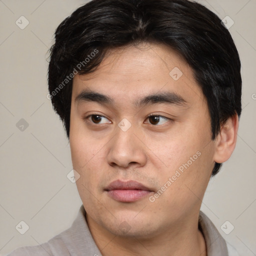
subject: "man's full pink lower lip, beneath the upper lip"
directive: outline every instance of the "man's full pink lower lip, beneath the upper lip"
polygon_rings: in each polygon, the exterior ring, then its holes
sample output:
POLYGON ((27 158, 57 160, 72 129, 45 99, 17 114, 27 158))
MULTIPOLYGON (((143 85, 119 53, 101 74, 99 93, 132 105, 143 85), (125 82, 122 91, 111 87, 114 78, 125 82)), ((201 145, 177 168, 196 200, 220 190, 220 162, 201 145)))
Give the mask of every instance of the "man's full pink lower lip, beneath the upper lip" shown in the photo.
POLYGON ((116 201, 133 202, 148 195, 151 191, 139 189, 114 189, 107 191, 107 194, 116 201))

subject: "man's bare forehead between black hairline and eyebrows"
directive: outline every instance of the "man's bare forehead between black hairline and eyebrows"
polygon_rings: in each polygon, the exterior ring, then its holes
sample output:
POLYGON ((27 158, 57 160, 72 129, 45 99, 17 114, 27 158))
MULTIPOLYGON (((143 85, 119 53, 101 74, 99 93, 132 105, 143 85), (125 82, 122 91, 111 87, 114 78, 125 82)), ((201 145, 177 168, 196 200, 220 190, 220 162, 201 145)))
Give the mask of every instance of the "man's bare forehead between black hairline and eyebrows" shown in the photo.
POLYGON ((184 59, 162 44, 140 44, 108 51, 95 71, 73 78, 72 101, 82 90, 119 100, 161 91, 181 95, 187 102, 203 100, 193 71, 184 59))

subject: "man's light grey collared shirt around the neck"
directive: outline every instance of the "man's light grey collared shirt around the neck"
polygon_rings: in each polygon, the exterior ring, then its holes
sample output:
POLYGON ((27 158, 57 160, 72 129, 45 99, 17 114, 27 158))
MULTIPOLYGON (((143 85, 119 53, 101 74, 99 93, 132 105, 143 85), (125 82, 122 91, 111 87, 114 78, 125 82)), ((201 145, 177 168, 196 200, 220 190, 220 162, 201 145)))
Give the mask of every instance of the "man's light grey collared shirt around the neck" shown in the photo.
MULTIPOLYGON (((207 256, 236 256, 228 248, 214 224, 202 212, 199 213, 199 229, 207 248, 207 256)), ((102 256, 88 228, 85 209, 80 206, 70 228, 51 238, 48 242, 35 246, 20 247, 7 256, 102 256)))

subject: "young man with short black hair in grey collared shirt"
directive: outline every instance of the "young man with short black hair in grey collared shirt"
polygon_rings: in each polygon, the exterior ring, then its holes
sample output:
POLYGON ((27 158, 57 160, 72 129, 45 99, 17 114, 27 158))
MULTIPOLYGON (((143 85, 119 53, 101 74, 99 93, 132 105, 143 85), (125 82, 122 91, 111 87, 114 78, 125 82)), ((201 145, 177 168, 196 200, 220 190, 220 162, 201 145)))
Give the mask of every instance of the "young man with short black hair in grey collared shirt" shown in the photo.
POLYGON ((49 94, 82 205, 72 226, 9 255, 237 255, 200 212, 236 143, 240 61, 188 0, 92 0, 55 31, 49 94))

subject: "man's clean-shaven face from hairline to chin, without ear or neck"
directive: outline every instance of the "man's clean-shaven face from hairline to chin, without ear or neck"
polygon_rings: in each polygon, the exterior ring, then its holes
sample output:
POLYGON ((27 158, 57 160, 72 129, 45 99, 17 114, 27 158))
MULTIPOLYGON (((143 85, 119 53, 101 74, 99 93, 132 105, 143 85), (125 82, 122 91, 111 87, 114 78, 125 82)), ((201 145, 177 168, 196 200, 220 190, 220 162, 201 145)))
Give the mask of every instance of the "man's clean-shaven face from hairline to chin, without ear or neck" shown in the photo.
POLYGON ((198 214, 214 166, 207 102, 164 45, 108 52, 73 79, 70 148, 87 221, 151 237, 198 214))

